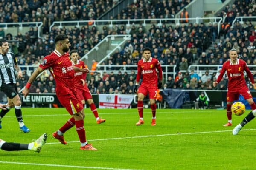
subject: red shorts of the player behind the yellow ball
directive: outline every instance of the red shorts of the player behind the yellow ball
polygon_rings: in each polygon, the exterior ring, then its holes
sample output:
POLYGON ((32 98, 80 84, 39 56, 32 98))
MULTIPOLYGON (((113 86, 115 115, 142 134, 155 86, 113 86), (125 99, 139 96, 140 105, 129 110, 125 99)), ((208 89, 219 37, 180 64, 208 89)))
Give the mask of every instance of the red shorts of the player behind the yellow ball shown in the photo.
POLYGON ((239 99, 239 94, 244 96, 244 99, 250 99, 252 98, 252 94, 250 93, 249 89, 245 86, 243 88, 240 88, 236 91, 228 91, 227 90, 227 102, 233 102, 234 100, 239 99))

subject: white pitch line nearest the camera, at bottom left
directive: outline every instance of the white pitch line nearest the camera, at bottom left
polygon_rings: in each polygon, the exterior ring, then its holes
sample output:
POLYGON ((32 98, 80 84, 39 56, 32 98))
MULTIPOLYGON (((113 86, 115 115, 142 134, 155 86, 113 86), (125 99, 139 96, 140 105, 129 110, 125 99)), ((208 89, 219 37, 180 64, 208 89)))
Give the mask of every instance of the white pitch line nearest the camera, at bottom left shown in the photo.
POLYGON ((59 164, 36 164, 36 163, 8 162, 8 161, 0 161, 0 163, 38 165, 38 166, 47 166, 47 167, 72 167, 72 168, 97 169, 97 170, 136 170, 136 169, 122 169, 122 168, 112 168, 112 167, 84 167, 84 166, 71 166, 71 165, 59 165, 59 164))

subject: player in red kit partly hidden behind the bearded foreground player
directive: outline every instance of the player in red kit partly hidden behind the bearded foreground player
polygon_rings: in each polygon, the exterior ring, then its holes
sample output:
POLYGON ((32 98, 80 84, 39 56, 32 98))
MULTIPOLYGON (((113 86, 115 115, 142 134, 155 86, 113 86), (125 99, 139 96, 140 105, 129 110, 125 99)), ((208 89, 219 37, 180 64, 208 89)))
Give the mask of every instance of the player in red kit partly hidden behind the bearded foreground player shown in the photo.
MULTIPOLYGON (((79 61, 78 59, 79 57, 78 51, 71 50, 70 57, 71 57, 71 62, 74 66, 78 68, 86 68, 84 62, 79 61)), ((90 109, 96 118, 96 123, 101 124, 101 123, 104 123, 106 120, 99 118, 97 108, 93 102, 93 96, 91 95, 90 90, 88 89, 85 83, 86 74, 87 73, 83 73, 81 71, 75 73, 76 80, 78 81, 76 85, 77 94, 80 96, 80 99, 83 105, 85 104, 85 100, 88 102, 88 104, 90 105, 90 109)))

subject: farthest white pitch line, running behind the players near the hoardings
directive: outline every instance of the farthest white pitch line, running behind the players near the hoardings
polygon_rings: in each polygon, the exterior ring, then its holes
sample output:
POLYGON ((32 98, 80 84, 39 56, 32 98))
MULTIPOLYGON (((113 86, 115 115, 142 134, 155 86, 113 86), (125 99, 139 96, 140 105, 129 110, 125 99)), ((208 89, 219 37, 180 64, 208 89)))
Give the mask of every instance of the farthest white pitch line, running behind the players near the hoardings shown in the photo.
MULTIPOLYGON (((151 112, 144 112, 144 113, 151 113, 151 112)), ((170 111, 170 112, 157 112, 157 113, 194 113, 194 111, 170 111)), ((199 112, 200 113, 200 112, 199 112)), ((112 115, 112 114, 138 114, 137 112, 119 112, 119 113, 99 113, 100 115, 112 115)), ((85 113, 85 116, 90 115, 90 113, 85 113)), ((23 115, 23 117, 39 117, 39 116, 70 116, 68 113, 63 114, 41 114, 41 115, 23 115)), ((5 117, 16 117, 16 116, 5 116, 5 117)))

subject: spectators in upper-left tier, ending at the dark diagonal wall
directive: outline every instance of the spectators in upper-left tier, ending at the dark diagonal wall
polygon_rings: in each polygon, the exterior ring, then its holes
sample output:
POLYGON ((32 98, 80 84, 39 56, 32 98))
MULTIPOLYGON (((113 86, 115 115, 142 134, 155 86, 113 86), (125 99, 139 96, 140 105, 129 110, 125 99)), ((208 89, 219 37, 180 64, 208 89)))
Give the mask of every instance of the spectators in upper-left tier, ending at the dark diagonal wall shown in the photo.
POLYGON ((2 0, 0 22, 43 22, 43 34, 53 21, 96 20, 119 0, 2 0))

